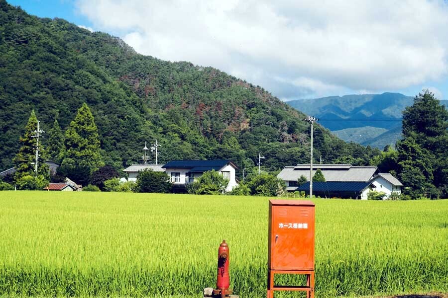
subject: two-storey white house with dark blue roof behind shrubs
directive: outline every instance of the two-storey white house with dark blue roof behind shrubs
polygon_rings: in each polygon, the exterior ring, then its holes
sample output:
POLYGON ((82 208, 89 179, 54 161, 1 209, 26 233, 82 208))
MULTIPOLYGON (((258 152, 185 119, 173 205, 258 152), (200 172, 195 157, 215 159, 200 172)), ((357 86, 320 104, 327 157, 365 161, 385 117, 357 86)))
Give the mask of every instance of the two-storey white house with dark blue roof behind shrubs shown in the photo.
POLYGON ((230 160, 173 160, 162 166, 174 188, 185 189, 187 184, 202 176, 206 171, 215 170, 228 179, 226 191, 231 191, 238 183, 235 178, 235 170, 238 168, 230 160))

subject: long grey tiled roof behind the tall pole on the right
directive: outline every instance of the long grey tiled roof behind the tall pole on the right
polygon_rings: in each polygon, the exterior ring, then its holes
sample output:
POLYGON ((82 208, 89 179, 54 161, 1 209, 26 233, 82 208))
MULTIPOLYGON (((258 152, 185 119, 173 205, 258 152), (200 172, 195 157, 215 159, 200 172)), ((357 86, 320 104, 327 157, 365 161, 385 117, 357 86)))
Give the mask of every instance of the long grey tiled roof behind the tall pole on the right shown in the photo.
MULTIPOLYGON (((350 166, 346 164, 335 165, 313 165, 313 171, 320 168, 325 180, 338 182, 368 182, 377 173, 376 166, 350 166)), ((314 174, 314 173, 313 173, 314 174)), ((286 166, 277 175, 283 181, 297 181, 300 176, 310 178, 310 165, 286 166), (308 166, 308 167, 307 167, 308 166)))

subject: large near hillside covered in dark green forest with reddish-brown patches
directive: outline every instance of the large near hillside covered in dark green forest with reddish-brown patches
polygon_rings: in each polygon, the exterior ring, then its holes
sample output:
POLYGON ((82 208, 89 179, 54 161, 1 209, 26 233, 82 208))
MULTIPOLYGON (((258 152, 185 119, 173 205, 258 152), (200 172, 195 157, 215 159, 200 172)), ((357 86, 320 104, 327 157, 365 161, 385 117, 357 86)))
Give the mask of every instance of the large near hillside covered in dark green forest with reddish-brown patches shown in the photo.
MULTIPOLYGON (((308 161, 304 114, 259 86, 210 67, 139 55, 119 38, 30 16, 4 0, 0 32, 0 169, 12 166, 32 109, 45 131, 55 119, 66 130, 84 102, 103 159, 117 169, 138 162, 144 142, 155 139, 161 162, 229 158, 242 171, 258 152, 269 170, 308 161)), ((325 162, 355 164, 378 152, 319 125, 315 150, 325 162)))

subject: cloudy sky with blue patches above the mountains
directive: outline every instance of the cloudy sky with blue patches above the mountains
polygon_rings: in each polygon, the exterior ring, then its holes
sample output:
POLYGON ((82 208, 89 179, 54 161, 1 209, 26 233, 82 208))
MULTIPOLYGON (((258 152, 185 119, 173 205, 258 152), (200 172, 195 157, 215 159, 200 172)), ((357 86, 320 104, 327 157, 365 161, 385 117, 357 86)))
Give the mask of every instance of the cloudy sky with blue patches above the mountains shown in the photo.
POLYGON ((443 0, 7 1, 119 36, 144 55, 218 68, 282 100, 422 88, 448 99, 443 0))

